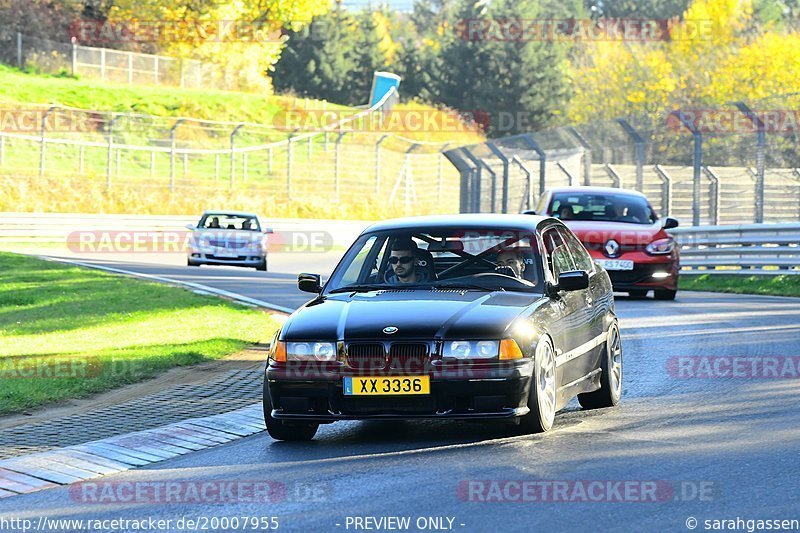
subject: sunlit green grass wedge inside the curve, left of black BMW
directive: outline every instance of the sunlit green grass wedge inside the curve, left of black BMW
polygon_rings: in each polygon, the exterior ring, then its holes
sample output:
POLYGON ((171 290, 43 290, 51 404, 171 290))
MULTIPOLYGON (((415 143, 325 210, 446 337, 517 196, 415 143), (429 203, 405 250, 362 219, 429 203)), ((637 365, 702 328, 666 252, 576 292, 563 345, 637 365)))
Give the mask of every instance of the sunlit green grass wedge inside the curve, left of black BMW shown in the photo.
POLYGON ((0 414, 224 357, 277 327, 216 297, 0 253, 0 414))

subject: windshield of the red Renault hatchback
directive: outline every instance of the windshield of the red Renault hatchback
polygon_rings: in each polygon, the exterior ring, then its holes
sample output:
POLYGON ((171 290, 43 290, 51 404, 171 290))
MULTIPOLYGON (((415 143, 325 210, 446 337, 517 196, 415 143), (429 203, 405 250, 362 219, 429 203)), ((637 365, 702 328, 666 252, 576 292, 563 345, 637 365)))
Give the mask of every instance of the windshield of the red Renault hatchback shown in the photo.
POLYGON ((550 202, 550 216, 561 220, 602 220, 653 224, 658 220, 647 200, 618 193, 555 193, 550 202))

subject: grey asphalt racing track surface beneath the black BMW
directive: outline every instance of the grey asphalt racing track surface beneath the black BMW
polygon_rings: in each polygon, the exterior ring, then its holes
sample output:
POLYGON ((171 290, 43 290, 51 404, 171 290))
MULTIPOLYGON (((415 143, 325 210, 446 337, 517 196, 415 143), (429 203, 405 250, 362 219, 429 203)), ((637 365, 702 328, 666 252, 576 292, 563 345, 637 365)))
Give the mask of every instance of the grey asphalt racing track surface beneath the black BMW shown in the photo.
MULTIPOLYGON (((324 272, 329 259, 304 260, 298 270, 324 272)), ((281 305, 304 301, 293 288, 296 272, 285 266, 291 261, 274 262, 279 272, 268 274, 115 262, 281 305)), ((262 433, 102 481, 274 481, 287 487, 285 499, 101 505, 64 487, 0 500, 0 521, 276 516, 283 531, 355 531, 346 527, 348 517, 409 516, 413 526, 418 517, 443 516, 454 519, 455 531, 483 532, 690 531, 690 517, 703 531, 712 519, 800 519, 800 381, 679 378, 667 370, 680 356, 797 356, 800 300, 683 292, 675 302, 619 297, 617 311, 621 405, 581 411, 573 402, 545 436, 427 421, 340 422, 322 426, 311 443, 262 433), (592 481, 654 482, 658 501, 604 490, 616 501, 587 502, 576 484, 569 485, 570 501, 465 501, 469 493, 458 489, 468 480, 573 480, 584 488, 592 481), (309 489, 316 492, 309 496, 309 489)))

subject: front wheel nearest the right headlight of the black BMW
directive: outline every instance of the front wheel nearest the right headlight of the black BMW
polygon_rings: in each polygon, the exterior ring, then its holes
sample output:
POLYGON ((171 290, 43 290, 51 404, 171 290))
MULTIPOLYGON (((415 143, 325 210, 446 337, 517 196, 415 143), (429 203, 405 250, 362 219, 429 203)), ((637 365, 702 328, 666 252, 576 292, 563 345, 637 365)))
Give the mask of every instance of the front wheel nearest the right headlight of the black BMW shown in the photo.
POLYGON ((533 379, 528 394, 530 412, 521 417, 521 433, 544 433, 553 427, 556 416, 556 354, 549 337, 542 337, 536 345, 533 379))

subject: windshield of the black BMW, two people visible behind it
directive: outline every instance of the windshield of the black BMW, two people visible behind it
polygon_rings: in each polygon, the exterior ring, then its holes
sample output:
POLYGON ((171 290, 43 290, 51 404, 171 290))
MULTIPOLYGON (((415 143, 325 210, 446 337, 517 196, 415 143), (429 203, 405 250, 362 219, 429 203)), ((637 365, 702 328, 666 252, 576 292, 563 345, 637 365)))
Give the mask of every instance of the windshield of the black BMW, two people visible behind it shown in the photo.
POLYGON ((461 288, 541 292, 531 232, 503 229, 385 231, 356 240, 325 292, 461 288))

